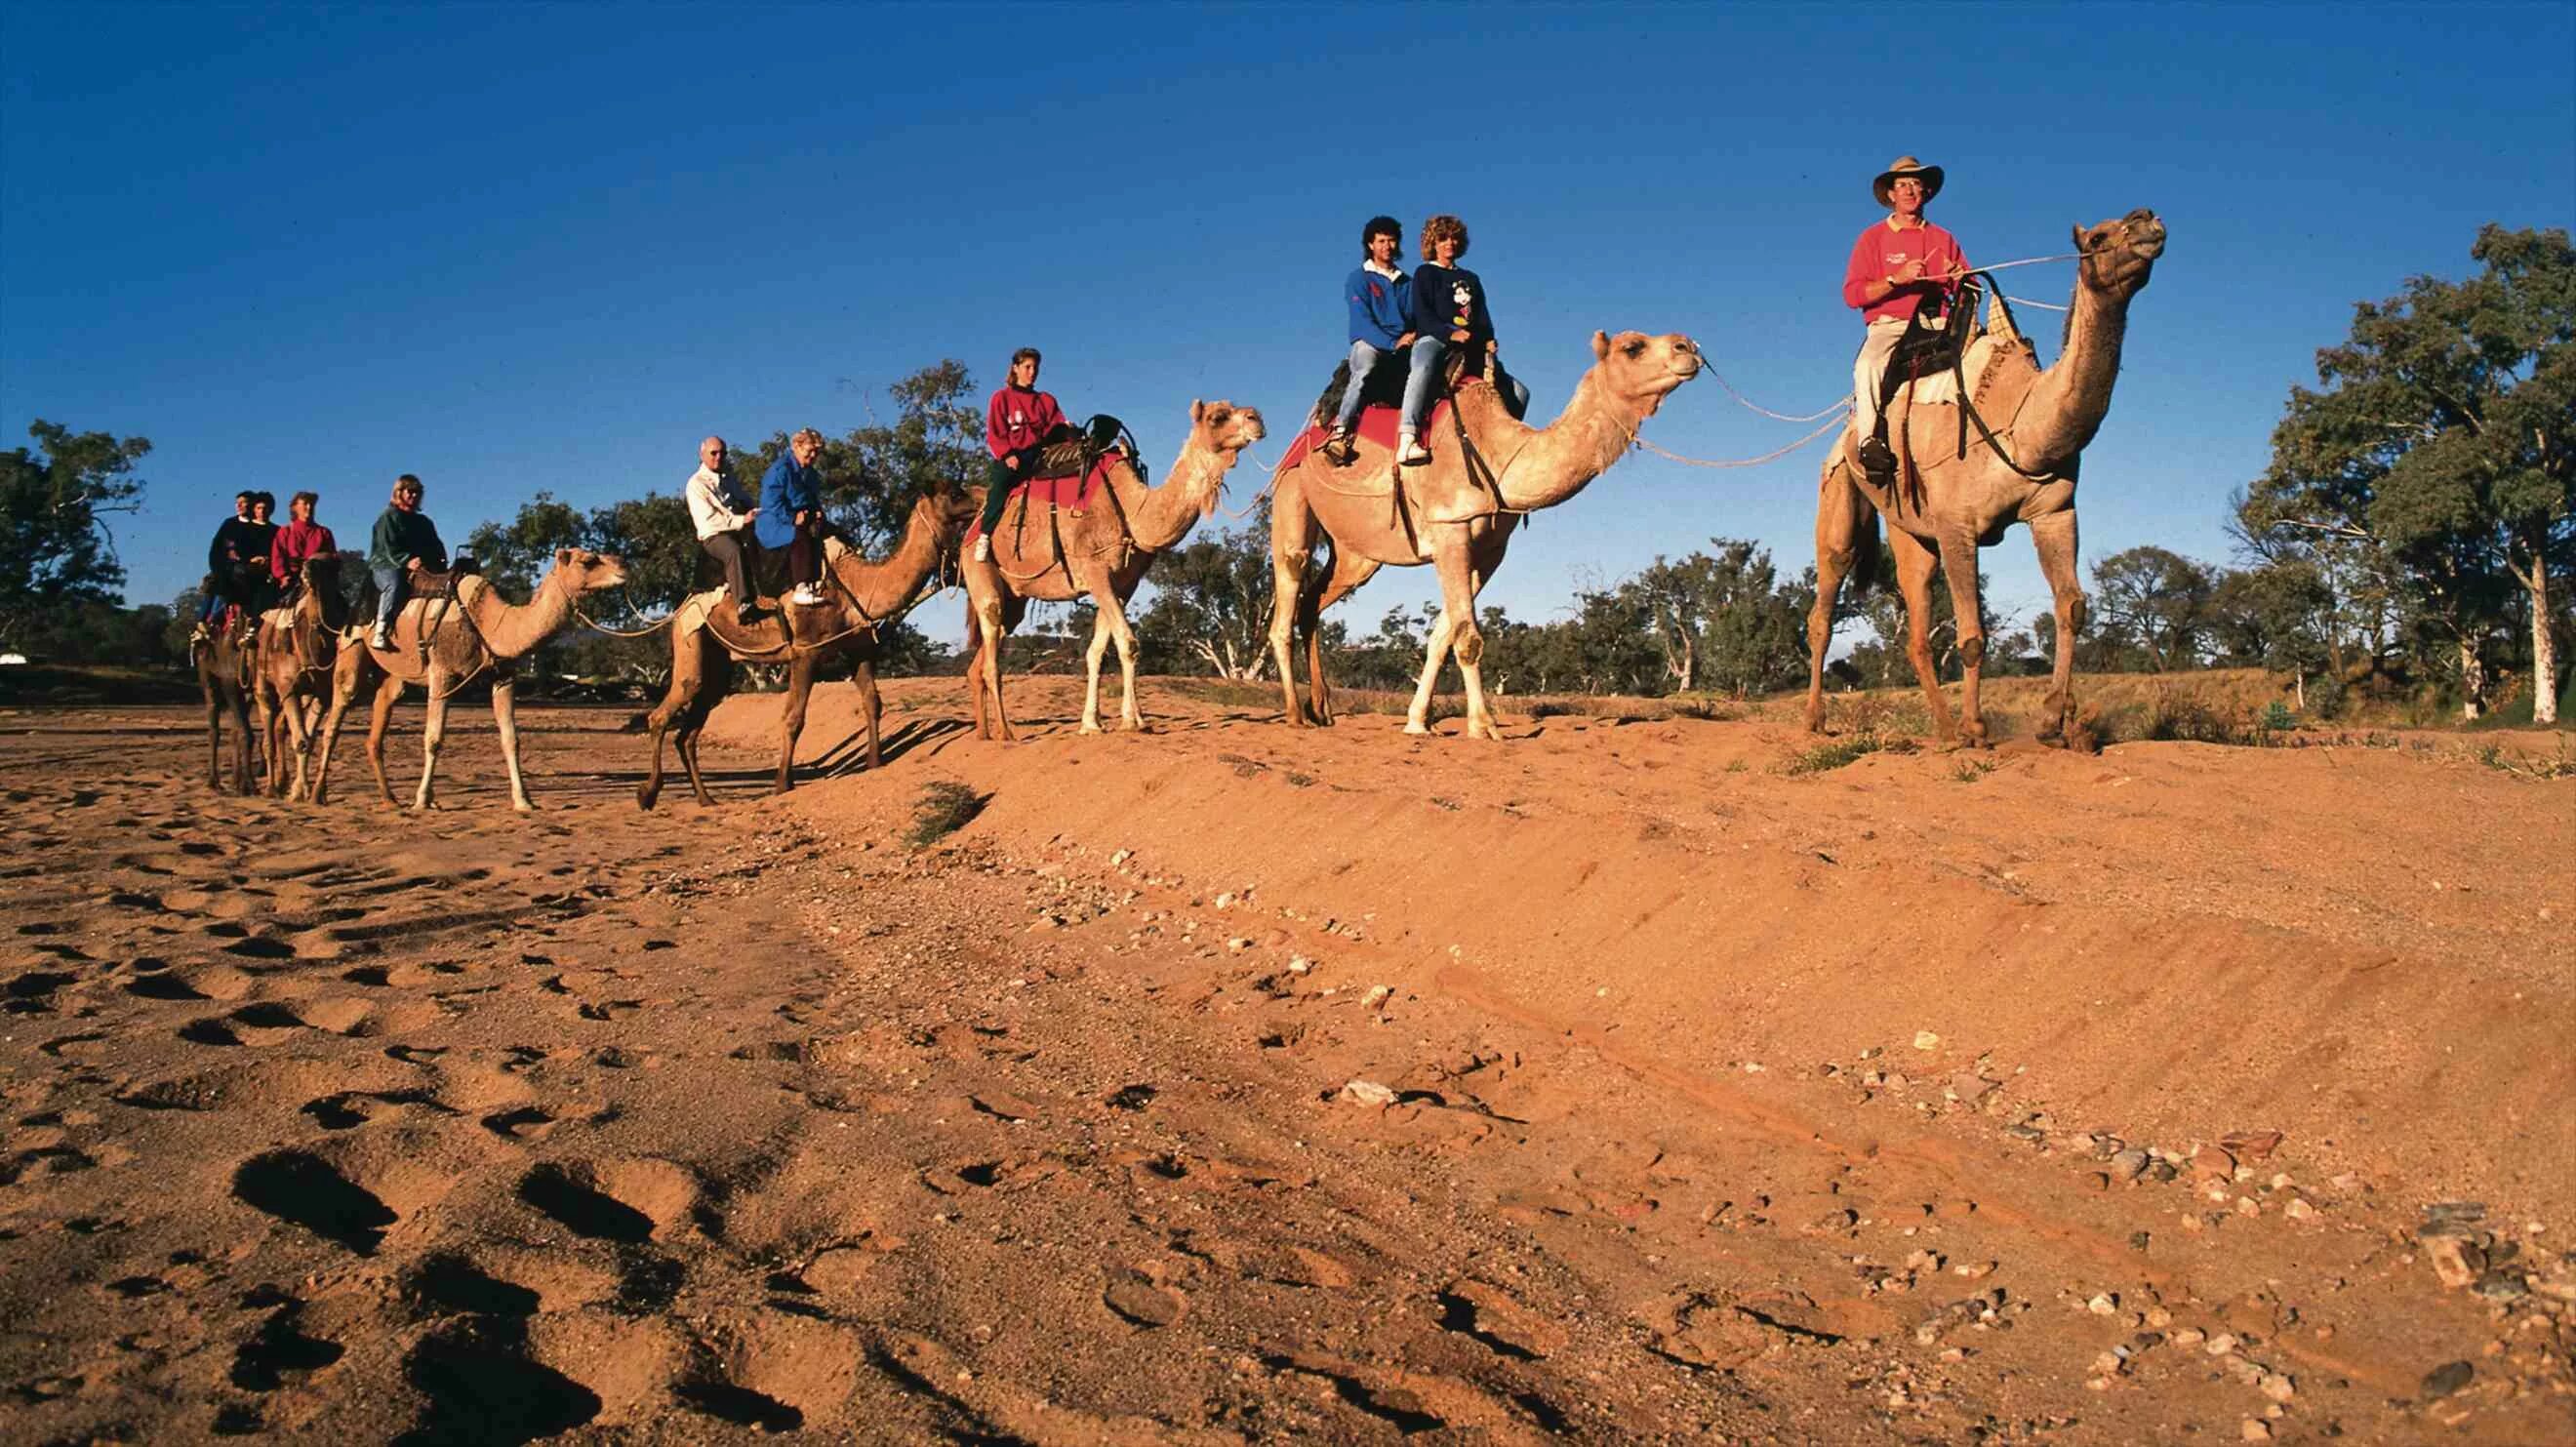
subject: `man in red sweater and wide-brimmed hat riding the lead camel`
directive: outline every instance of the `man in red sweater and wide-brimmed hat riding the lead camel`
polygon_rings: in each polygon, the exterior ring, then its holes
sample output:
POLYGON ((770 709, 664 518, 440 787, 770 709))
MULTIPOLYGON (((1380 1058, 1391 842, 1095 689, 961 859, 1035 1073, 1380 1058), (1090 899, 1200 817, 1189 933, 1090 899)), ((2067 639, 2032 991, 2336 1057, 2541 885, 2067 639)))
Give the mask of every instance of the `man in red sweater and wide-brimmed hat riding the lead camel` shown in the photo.
POLYGON ((1888 355, 1906 335, 1906 322, 1924 312, 1924 324, 1947 324, 1947 288, 1968 275, 1968 257, 1958 250, 1958 237, 1924 219, 1924 206, 1940 196, 1940 167, 1914 157, 1896 157, 1896 165, 1878 173, 1870 196, 1888 209, 1883 221, 1873 221, 1852 242, 1852 263, 1842 268, 1842 304, 1857 306, 1868 322, 1868 337, 1852 360, 1852 427, 1860 433, 1860 466, 1870 481, 1886 487, 1896 476, 1896 453, 1888 451, 1888 417, 1878 397, 1888 378, 1888 355))

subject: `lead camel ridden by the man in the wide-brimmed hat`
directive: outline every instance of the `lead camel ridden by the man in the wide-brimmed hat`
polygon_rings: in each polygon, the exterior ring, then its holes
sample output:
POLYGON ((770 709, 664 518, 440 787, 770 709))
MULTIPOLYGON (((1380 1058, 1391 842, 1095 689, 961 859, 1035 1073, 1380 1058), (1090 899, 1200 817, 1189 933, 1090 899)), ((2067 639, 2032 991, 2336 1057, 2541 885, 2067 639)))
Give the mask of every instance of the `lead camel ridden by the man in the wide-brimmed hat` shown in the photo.
POLYGON ((1870 484, 1857 461, 1860 440, 1850 427, 1826 458, 1816 494, 1816 605, 1806 618, 1811 734, 1824 731, 1824 649, 1834 639, 1834 592, 1855 561, 1875 564, 1878 518, 1886 518, 1896 587, 1906 602, 1906 657, 1932 708, 1932 731, 1942 744, 1963 736, 1971 747, 1986 744, 1986 716, 1978 705, 1986 631, 1976 551, 1999 543, 2004 528, 2014 523, 2030 525, 2058 626, 2040 742, 2066 742, 2074 713, 2076 631, 2084 628, 2084 590, 2076 582, 2076 466, 2084 443, 2092 443, 2102 417, 2110 415, 2128 304, 2146 288, 2156 257, 2164 255, 2164 221, 2138 209, 2089 229, 2076 227, 2074 237, 2084 255, 2076 263, 2066 345, 2056 366, 2045 371, 2038 366, 2032 345, 2012 330, 2002 299, 1989 304, 1989 337, 1971 342, 1971 368, 1978 360, 1976 348, 1991 348, 1984 371, 1971 371, 1971 397, 2009 461, 1971 430, 1955 402, 1911 402, 1904 394, 1888 407, 1888 440, 1899 456, 1893 489, 1870 484), (1960 628, 1958 651, 1965 662, 1960 724, 1953 724, 1932 672, 1935 566, 1950 579, 1950 608, 1960 628))

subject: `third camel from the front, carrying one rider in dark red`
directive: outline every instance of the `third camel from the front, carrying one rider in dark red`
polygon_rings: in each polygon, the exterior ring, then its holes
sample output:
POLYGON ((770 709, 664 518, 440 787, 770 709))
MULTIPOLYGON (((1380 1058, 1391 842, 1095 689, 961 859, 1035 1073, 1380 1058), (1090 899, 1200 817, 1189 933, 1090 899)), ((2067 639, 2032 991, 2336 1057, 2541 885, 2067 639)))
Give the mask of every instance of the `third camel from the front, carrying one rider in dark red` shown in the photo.
MULTIPOLYGON (((1262 440, 1262 415, 1231 402, 1190 402, 1190 438, 1172 461, 1162 487, 1146 487, 1136 469, 1118 458, 1108 487, 1090 507, 1048 507, 1030 512, 1028 497, 1002 515, 989 561, 966 564, 966 680, 974 695, 974 726, 984 739, 1012 742, 1018 734, 1002 713, 1002 639, 1020 626, 1030 602, 1072 602, 1090 597, 1097 608, 1092 646, 1084 657, 1082 731, 1100 731, 1100 659, 1118 644, 1123 695, 1118 718, 1144 729, 1136 711, 1136 633, 1126 605, 1136 597, 1154 559, 1190 536, 1200 518, 1216 512, 1216 489, 1244 448, 1262 440)), ((981 505, 981 489, 969 489, 981 505)))

